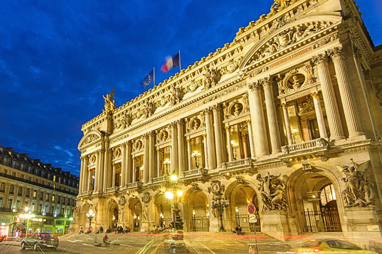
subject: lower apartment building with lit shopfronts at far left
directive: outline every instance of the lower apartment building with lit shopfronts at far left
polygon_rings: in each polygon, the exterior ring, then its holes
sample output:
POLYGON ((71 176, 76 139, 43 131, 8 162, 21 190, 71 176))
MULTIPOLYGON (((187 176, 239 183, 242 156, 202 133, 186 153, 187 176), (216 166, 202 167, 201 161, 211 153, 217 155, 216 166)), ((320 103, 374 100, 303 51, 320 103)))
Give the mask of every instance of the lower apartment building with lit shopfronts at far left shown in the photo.
POLYGON ((0 146, 0 234, 65 234, 78 183, 70 172, 0 146))

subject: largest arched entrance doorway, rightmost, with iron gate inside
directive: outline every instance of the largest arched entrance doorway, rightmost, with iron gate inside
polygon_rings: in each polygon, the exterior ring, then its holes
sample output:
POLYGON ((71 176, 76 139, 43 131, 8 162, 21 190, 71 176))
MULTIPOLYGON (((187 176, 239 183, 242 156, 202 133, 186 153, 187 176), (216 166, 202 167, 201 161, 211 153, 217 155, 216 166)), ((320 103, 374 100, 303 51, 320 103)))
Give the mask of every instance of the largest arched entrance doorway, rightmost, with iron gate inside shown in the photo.
MULTIPOLYGON (((302 170, 301 170, 302 171, 302 170)), ((327 172, 295 172, 287 182, 291 212, 303 232, 341 232, 336 181, 327 172), (332 177, 331 177, 332 178, 332 177), (298 180, 297 180, 298 179, 298 180)))

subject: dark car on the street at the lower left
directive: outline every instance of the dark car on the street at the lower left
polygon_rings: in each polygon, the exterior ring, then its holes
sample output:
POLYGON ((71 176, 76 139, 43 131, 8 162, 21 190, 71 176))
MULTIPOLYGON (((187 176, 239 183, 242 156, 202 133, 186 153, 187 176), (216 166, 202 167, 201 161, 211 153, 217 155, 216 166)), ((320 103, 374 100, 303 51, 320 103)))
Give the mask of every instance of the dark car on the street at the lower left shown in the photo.
POLYGON ((25 249, 26 247, 33 248, 37 250, 40 248, 50 248, 55 250, 58 247, 58 238, 50 233, 35 233, 26 236, 21 241, 21 248, 25 249))

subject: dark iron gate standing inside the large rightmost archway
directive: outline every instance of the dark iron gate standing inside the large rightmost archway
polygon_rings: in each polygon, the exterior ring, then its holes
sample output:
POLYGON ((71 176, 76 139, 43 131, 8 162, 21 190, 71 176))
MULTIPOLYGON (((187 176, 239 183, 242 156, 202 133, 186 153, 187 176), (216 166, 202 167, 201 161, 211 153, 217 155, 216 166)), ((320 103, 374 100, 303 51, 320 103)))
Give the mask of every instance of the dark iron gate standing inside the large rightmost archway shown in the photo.
POLYGON ((337 207, 321 207, 321 211, 305 211, 308 232, 342 232, 337 207))

